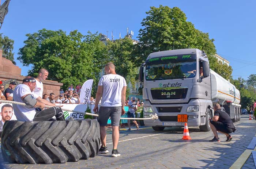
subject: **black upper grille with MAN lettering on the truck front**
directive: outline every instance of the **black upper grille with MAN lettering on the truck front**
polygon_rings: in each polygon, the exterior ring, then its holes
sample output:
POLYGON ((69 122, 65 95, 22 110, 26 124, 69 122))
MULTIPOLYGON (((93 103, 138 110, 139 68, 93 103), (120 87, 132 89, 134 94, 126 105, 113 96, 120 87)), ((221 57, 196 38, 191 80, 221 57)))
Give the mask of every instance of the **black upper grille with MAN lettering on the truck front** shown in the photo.
POLYGON ((151 95, 154 100, 166 99, 185 99, 187 96, 188 88, 179 89, 151 89, 151 95))

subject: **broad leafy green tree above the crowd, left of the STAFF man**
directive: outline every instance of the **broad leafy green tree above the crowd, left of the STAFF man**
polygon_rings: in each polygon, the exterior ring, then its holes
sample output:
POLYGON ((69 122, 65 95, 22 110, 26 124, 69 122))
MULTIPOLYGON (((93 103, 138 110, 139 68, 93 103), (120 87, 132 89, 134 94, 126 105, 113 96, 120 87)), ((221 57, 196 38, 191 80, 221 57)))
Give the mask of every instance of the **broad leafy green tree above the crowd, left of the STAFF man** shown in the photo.
POLYGON ((84 36, 75 30, 67 35, 62 30, 42 29, 26 36, 18 59, 23 66, 32 64, 30 76, 37 76, 38 70, 45 68, 49 71, 49 80, 62 82, 64 88, 83 84, 88 79, 96 80, 100 68, 94 66, 98 61, 95 55, 99 54, 95 51, 102 47, 97 33, 84 36))

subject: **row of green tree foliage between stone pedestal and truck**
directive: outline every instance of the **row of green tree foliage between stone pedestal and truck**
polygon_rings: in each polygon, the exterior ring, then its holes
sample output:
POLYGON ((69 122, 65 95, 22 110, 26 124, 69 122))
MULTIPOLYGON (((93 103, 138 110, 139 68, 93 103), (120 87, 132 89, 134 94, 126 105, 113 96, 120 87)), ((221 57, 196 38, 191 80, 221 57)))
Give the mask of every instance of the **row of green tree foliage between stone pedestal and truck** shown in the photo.
POLYGON ((107 62, 113 62, 116 73, 125 77, 127 82, 138 73, 131 55, 133 43, 129 38, 105 44, 99 41, 98 33, 82 35, 75 30, 67 35, 62 30, 46 29, 26 36, 18 59, 23 66, 32 65, 29 76, 36 77, 38 70, 45 68, 49 71, 48 79, 62 82, 63 88, 94 79, 92 96, 95 96, 100 73, 107 62))

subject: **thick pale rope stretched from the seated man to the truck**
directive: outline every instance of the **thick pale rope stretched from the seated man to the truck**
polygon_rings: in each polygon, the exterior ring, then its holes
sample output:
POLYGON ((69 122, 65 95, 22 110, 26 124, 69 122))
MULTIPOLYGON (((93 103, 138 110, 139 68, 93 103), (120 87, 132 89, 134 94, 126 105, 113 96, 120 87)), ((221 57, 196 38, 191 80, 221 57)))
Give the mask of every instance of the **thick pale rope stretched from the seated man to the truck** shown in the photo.
MULTIPOLYGON (((0 100, 0 102, 1 102, 1 103, 18 104, 18 105, 23 105, 23 106, 28 107, 25 103, 20 103, 20 102, 17 102, 17 101, 0 100)), ((56 106, 57 106, 57 105, 56 105, 56 106)), ((51 108, 51 107, 53 107, 53 106, 45 105, 45 107, 51 108)), ((69 110, 69 109, 62 108, 62 107, 60 107, 60 108, 61 108, 62 110, 64 110, 64 111, 75 112, 75 113, 79 113, 79 114, 86 114, 86 115, 96 116, 96 117, 99 116, 99 115, 97 115, 97 114, 92 114, 92 113, 87 113, 87 112, 80 112, 80 111, 76 111, 76 110, 69 110)), ((155 114, 155 115, 150 114, 149 116, 150 116, 150 118, 121 118, 121 119, 126 119, 126 120, 155 120, 155 119, 158 119, 157 114, 155 114)))

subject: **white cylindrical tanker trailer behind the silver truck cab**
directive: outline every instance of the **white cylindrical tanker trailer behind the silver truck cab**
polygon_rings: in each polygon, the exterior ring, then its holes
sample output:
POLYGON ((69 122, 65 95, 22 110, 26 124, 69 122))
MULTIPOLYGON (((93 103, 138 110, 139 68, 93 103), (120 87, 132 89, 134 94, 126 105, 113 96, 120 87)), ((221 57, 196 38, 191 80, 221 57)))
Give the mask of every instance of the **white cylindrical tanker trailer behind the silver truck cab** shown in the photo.
POLYGON ((210 69, 211 74, 211 100, 213 104, 219 103, 225 108, 233 122, 240 120, 241 105, 239 90, 210 69))

